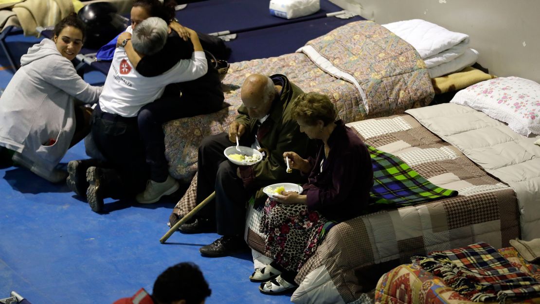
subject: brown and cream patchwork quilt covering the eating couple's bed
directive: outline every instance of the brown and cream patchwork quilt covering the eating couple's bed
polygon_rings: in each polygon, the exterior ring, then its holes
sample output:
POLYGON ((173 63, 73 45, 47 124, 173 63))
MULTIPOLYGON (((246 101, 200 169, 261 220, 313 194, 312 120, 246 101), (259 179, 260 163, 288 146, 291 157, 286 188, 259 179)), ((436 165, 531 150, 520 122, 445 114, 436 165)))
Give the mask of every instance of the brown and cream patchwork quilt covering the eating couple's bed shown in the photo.
MULTIPOLYGON (((336 225, 296 276, 300 287, 293 302, 369 301, 366 293, 379 276, 411 255, 478 241, 502 248, 520 235, 540 237, 540 147, 531 138, 457 104, 349 126, 367 144, 400 157, 432 183, 459 195, 336 225)), ((248 244, 259 252, 264 244, 260 215, 250 210, 246 231, 248 244)))

